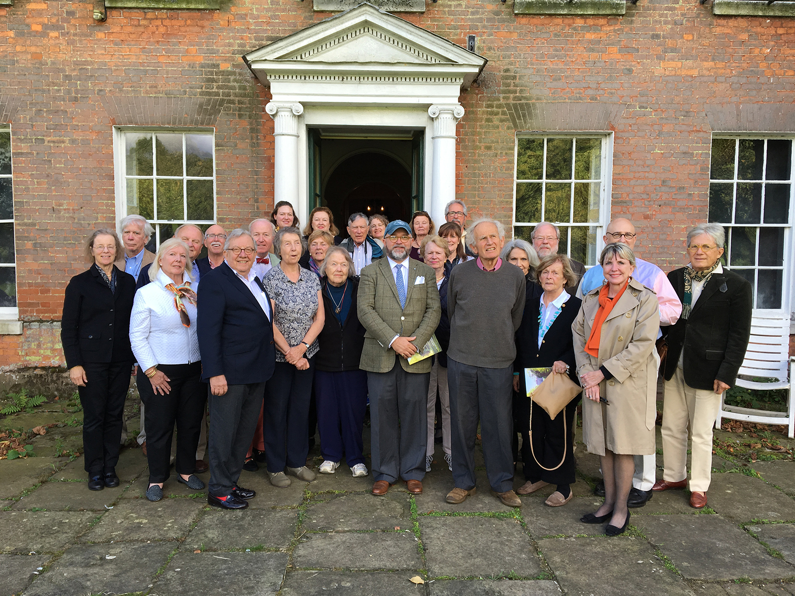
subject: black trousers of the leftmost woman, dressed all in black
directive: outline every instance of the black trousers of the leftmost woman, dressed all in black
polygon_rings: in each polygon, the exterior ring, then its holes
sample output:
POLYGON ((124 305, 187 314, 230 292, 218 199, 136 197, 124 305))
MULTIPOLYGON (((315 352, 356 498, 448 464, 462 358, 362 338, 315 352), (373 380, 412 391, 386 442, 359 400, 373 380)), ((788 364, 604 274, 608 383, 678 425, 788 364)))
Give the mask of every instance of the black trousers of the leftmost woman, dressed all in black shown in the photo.
POLYGON ((87 383, 78 387, 83 406, 83 461, 89 476, 111 472, 118 463, 122 417, 133 362, 86 362, 87 383))

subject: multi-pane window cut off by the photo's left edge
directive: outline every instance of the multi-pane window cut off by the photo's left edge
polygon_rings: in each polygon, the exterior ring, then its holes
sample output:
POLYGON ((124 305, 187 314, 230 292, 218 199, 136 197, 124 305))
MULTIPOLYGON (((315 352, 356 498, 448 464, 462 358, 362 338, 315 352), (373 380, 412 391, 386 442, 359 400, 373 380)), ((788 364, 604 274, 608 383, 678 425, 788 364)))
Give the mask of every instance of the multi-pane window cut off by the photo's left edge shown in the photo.
POLYGON ((11 184, 11 131, 0 128, 0 315, 14 315, 6 311, 7 308, 17 308, 17 266, 14 251, 14 190, 11 184))

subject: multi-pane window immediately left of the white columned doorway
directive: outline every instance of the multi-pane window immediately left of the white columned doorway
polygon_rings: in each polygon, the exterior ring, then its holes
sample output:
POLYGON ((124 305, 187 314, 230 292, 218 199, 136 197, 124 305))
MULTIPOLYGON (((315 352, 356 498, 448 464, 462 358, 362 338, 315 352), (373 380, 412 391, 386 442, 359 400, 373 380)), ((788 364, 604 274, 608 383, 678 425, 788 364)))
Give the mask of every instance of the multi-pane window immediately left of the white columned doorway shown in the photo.
POLYGON ((126 215, 143 215, 155 248, 183 223, 215 223, 215 143, 212 133, 125 130, 126 215))

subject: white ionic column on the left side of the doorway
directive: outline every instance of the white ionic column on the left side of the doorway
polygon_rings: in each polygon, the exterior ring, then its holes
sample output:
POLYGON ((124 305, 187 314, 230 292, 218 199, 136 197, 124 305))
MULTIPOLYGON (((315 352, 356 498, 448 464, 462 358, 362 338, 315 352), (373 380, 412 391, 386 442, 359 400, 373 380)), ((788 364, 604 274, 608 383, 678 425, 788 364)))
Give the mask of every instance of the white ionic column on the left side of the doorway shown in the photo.
POLYGON ((271 102, 265 111, 273 118, 273 203, 289 201, 298 212, 298 117, 300 103, 271 102))

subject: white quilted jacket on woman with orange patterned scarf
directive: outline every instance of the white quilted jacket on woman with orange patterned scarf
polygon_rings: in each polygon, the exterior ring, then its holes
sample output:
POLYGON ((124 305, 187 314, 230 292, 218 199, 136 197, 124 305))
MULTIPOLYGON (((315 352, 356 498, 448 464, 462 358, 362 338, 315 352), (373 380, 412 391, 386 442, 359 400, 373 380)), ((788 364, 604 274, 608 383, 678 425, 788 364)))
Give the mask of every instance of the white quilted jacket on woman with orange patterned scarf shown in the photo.
MULTIPOLYGON (((184 273, 183 281, 191 281, 184 273)), ((135 292, 130 315, 130 344, 142 370, 157 364, 199 362, 199 339, 196 337, 196 304, 182 300, 191 326, 184 327, 174 305, 174 294, 165 289, 173 280, 162 271, 150 284, 135 292)))

